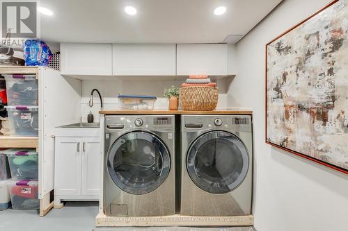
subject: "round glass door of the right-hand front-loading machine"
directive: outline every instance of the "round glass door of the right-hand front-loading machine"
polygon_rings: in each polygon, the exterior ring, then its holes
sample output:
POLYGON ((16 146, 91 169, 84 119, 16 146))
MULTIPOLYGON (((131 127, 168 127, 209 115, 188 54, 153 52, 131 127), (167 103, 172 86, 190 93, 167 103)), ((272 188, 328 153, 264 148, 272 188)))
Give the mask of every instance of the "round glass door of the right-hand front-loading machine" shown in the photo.
POLYGON ((246 146, 230 132, 207 132, 192 142, 187 153, 191 180, 212 194, 237 188, 246 177, 248 166, 246 146))

